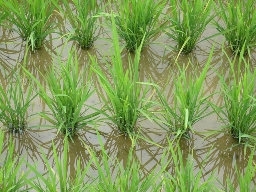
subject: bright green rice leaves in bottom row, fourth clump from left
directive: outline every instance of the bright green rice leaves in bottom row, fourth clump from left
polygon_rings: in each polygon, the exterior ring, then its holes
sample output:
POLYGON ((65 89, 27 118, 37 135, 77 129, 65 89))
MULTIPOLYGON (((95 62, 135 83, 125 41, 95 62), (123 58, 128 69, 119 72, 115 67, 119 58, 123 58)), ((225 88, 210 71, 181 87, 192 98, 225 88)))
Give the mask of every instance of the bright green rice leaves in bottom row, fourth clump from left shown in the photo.
MULTIPOLYGON (((168 139, 168 142, 169 139, 168 139)), ((211 148, 212 149, 212 148, 211 148)), ((163 176, 163 183, 166 191, 170 192, 218 192, 219 190, 215 188, 214 182, 216 178, 214 177, 214 173, 216 170, 208 177, 206 181, 200 183, 200 178, 202 176, 202 170, 204 166, 204 162, 206 161, 210 151, 207 153, 206 158, 202 162, 202 166, 198 173, 194 174, 193 167, 193 151, 191 153, 191 158, 187 159, 186 164, 183 164, 183 156, 180 151, 180 147, 178 146, 178 152, 174 152, 173 148, 170 147, 170 151, 172 153, 172 158, 175 164, 175 175, 171 175, 167 171, 165 171, 165 175, 163 176)))

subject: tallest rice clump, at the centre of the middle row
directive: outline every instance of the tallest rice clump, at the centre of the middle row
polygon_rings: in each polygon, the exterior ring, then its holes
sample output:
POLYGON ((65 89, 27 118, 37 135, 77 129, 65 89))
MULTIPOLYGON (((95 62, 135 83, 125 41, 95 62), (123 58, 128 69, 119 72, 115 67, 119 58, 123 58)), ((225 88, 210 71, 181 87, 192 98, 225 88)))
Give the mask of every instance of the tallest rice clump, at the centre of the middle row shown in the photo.
POLYGON ((149 87, 152 84, 150 84, 150 82, 138 82, 138 64, 144 38, 142 39, 142 44, 140 44, 138 50, 136 49, 134 62, 132 62, 129 55, 129 68, 124 73, 113 13, 111 18, 114 46, 114 52, 110 50, 112 65, 110 66, 110 62, 108 62, 106 58, 104 58, 104 60, 113 77, 113 84, 108 80, 104 72, 102 72, 96 58, 92 58, 92 56, 90 57, 92 60, 92 70, 98 75, 98 80, 104 88, 108 100, 106 100, 102 94, 99 94, 104 101, 104 108, 111 113, 111 116, 102 111, 101 113, 114 122, 121 133, 128 133, 133 131, 138 119, 154 118, 152 113, 149 112, 149 109, 155 105, 154 101, 150 101, 154 92, 147 99, 146 94, 152 90, 152 87, 149 87), (146 84, 146 86, 140 96, 142 84, 146 84))

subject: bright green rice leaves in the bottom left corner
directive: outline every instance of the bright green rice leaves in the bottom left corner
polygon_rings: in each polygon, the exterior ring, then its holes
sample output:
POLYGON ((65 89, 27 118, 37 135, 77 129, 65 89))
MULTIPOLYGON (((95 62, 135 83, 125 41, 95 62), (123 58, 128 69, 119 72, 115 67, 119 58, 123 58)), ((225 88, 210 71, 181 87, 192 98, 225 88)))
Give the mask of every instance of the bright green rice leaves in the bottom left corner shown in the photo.
MULTIPOLYGON (((0 129, 0 155, 2 154, 2 145, 4 138, 4 130, 0 129)), ((17 157, 14 156, 14 142, 10 138, 8 144, 8 152, 4 159, 0 159, 2 166, 0 167, 0 191, 1 192, 25 192, 30 190, 21 190, 27 184, 24 178, 27 178, 31 170, 26 173, 21 172, 22 160, 17 162, 17 157)), ((34 178, 27 179, 32 182, 34 178)))

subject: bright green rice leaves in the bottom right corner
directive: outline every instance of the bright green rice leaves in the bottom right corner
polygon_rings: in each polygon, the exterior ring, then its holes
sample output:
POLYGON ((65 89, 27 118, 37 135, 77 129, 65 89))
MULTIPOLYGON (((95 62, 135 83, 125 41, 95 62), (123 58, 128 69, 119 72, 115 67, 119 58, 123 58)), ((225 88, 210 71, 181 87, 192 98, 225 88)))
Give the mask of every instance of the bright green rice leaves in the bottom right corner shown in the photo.
MULTIPOLYGON (((242 176, 240 170, 238 171, 237 166, 235 164, 236 167, 236 175, 238 177, 238 182, 239 182, 239 188, 240 188, 240 192, 255 192, 256 191, 256 186, 252 186, 251 181, 254 178, 255 172, 256 172, 256 165, 253 163, 253 156, 254 156, 254 149, 252 150, 252 153, 250 155, 249 161, 248 161, 248 165, 246 167, 246 170, 244 172, 244 176, 242 176)), ((229 190, 225 190, 226 192, 236 192, 236 188, 234 188, 230 178, 227 177, 227 184, 228 184, 228 189, 229 190)))

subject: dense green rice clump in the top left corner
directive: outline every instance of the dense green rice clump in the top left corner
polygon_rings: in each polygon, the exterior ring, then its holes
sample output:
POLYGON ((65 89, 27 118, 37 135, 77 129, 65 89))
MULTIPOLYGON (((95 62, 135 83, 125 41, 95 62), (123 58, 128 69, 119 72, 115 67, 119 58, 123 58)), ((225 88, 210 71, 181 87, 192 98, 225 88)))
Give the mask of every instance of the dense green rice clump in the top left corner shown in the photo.
POLYGON ((54 21, 50 21, 54 9, 51 0, 0 0, 0 3, 6 7, 7 22, 16 27, 5 26, 27 40, 33 51, 57 29, 54 21))

